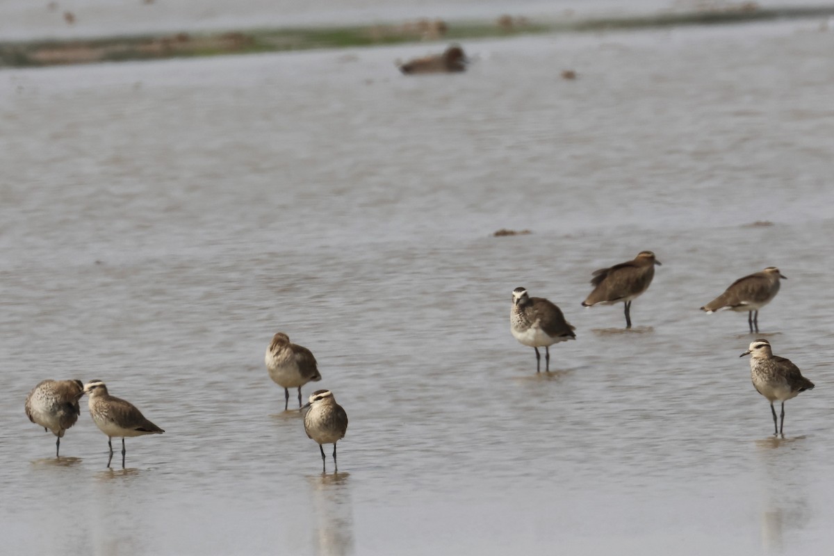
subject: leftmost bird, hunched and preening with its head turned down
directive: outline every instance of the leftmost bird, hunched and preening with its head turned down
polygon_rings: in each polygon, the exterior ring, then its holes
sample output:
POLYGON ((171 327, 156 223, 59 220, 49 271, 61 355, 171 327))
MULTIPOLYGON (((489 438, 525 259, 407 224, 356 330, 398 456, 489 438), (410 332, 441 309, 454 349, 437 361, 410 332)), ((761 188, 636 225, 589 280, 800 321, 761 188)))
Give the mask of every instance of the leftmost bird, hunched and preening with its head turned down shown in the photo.
POLYGON ((78 421, 78 400, 84 395, 80 380, 42 380, 26 397, 26 416, 55 436, 55 457, 60 457, 61 438, 78 421))

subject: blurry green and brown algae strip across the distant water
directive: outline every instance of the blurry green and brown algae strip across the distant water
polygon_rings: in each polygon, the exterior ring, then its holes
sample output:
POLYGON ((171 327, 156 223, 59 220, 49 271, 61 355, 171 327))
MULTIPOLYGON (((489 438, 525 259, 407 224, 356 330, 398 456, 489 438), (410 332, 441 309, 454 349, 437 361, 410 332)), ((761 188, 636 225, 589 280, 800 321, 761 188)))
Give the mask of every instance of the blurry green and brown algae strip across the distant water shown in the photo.
POLYGON ((605 30, 665 28, 761 22, 776 19, 829 18, 834 7, 760 8, 741 3, 721 9, 605 18, 531 21, 502 16, 491 22, 419 20, 401 24, 349 27, 274 28, 224 33, 175 33, 110 38, 0 43, 0 68, 31 68, 70 63, 152 60, 221 54, 266 53, 313 48, 368 47, 420 41, 460 42, 533 33, 587 33, 605 30))

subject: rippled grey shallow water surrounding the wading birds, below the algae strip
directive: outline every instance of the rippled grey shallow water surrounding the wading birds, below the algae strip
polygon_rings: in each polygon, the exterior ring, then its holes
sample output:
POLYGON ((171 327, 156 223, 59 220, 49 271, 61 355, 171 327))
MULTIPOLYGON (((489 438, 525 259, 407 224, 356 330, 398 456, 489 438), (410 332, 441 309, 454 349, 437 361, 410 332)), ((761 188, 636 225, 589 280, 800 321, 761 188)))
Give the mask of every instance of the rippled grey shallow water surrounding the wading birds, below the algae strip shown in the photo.
POLYGON ((451 77, 395 72, 425 46, 0 73, 9 553, 831 550, 834 34, 466 48, 451 77), (580 308, 646 248, 634 330, 580 308), (762 333, 697 310, 768 265, 762 333), (576 327, 554 373, 510 335, 520 285, 576 327), (339 475, 282 412, 279 330, 349 414, 339 475), (783 440, 738 357, 759 336, 817 386, 783 440), (23 413, 43 378, 166 433, 106 469, 85 411, 56 461, 23 413))

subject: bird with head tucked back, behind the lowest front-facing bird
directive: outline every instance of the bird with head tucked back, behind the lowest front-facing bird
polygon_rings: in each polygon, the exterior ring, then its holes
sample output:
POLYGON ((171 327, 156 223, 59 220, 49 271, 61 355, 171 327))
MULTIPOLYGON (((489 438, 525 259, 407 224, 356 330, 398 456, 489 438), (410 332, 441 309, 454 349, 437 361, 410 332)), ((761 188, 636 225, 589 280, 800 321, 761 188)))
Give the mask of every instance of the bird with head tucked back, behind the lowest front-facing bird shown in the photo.
POLYGON ((289 406, 289 388, 299 388, 299 408, 301 407, 301 387, 309 382, 319 382, 321 374, 313 353, 297 343, 289 341, 289 336, 279 332, 272 337, 266 348, 264 362, 269 371, 269 378, 284 388, 284 411, 289 406))

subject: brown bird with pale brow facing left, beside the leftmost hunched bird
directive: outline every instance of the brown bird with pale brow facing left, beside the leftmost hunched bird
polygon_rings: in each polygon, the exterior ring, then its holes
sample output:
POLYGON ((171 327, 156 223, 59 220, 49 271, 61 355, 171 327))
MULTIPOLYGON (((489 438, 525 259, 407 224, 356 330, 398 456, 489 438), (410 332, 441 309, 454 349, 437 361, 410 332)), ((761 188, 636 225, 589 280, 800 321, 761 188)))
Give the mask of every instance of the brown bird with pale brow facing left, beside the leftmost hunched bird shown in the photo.
POLYGON ((113 461, 113 443, 111 438, 122 437, 122 468, 127 450, 124 448, 124 438, 128 436, 142 436, 143 434, 162 434, 162 428, 157 427, 144 417, 133 403, 111 396, 107 386, 100 380, 91 380, 84 385, 84 393, 88 395, 90 415, 98 429, 107 434, 107 445, 110 447, 110 457, 107 466, 113 461))

